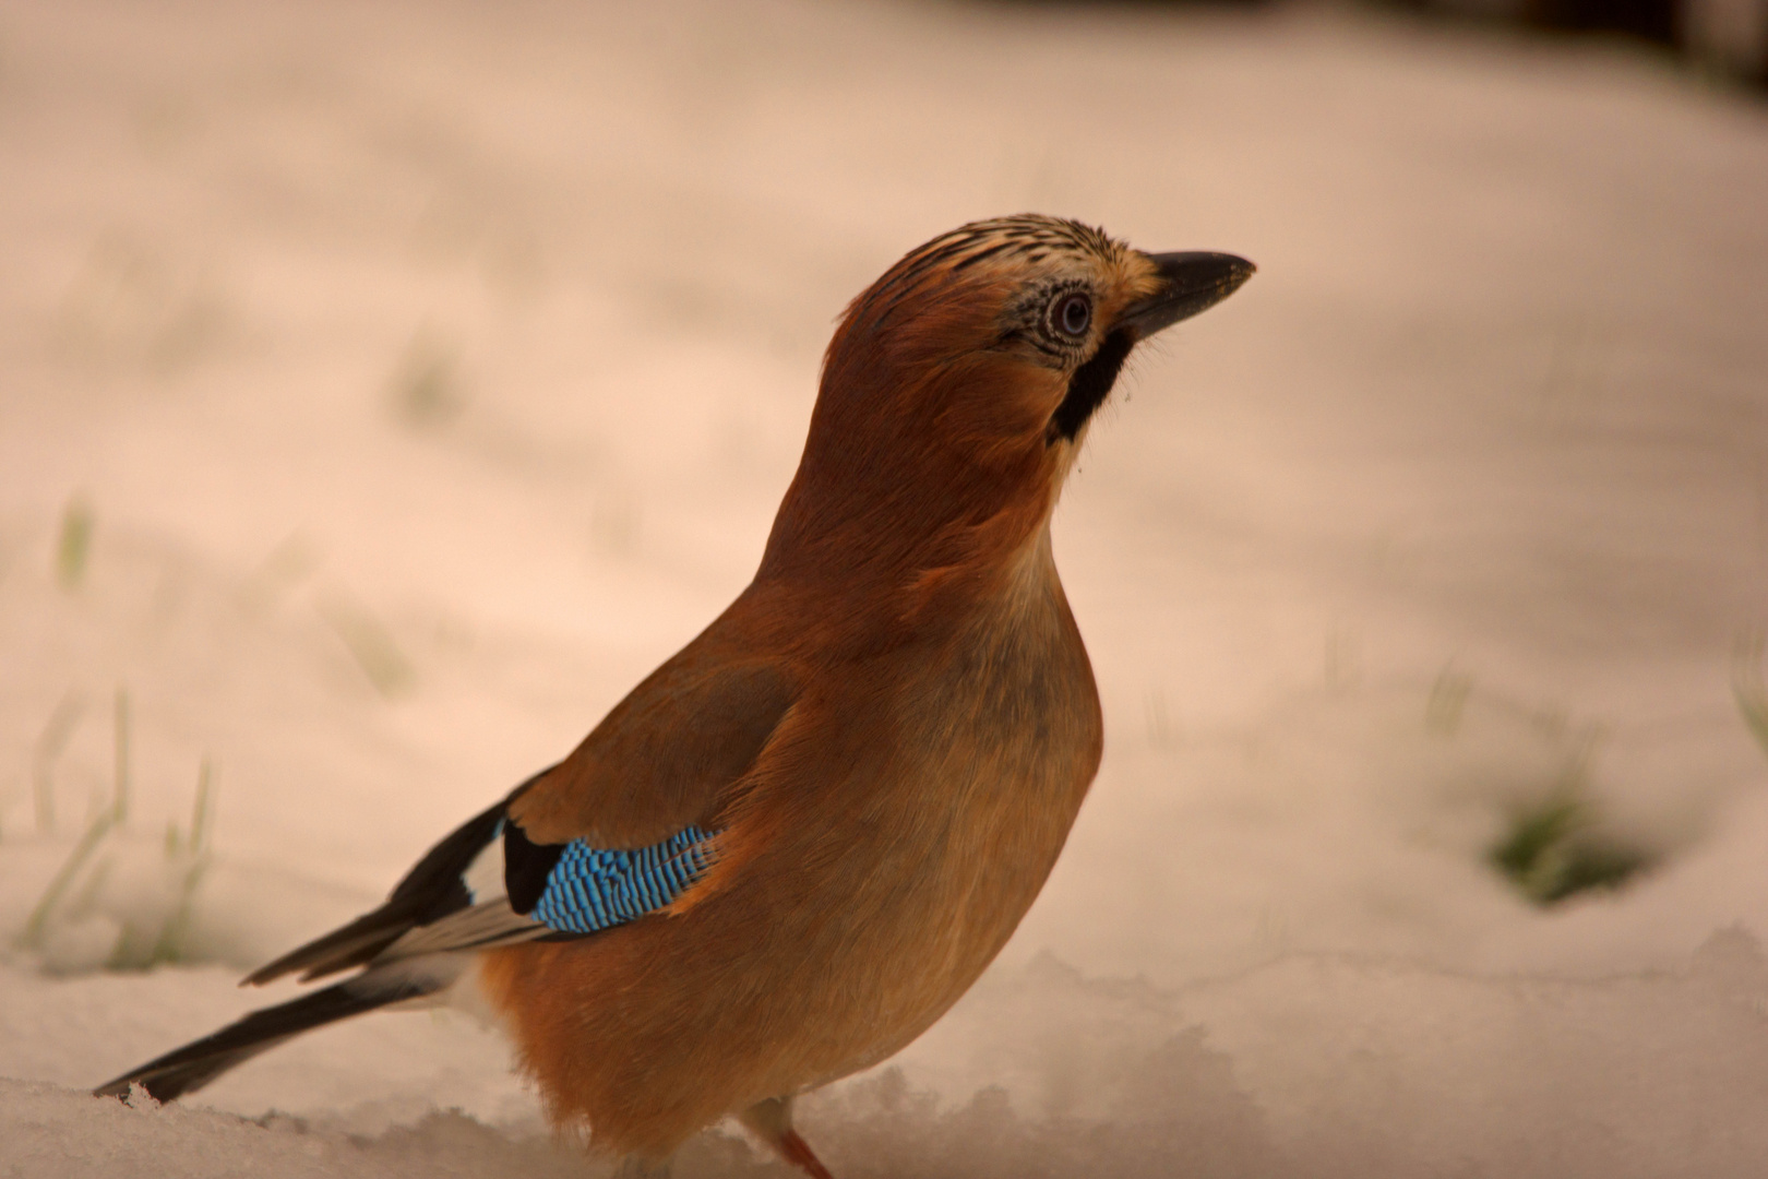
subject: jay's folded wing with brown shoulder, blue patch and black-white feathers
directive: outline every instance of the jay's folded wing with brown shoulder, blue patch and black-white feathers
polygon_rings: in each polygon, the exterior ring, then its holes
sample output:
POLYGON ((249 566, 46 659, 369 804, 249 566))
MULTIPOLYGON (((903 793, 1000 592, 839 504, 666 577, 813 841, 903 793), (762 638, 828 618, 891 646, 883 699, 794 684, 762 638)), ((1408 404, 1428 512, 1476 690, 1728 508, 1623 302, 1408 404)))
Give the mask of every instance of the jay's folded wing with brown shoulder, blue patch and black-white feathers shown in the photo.
POLYGON ((728 788, 796 691, 773 663, 665 663, 571 753, 467 820, 387 901, 248 976, 585 937, 672 905, 718 854, 728 788))

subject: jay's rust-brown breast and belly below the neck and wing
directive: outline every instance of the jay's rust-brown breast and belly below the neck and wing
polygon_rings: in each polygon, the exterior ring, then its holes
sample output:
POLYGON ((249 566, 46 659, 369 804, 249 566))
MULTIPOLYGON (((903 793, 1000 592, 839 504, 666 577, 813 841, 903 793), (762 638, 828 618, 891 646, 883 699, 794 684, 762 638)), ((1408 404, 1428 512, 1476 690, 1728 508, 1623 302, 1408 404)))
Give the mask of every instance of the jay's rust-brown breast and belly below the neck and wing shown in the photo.
POLYGON ((994 960, 1101 748, 1047 529, 1002 576, 937 635, 817 677, 750 774, 730 873, 704 900, 486 956, 559 1121, 667 1154, 886 1059, 994 960))

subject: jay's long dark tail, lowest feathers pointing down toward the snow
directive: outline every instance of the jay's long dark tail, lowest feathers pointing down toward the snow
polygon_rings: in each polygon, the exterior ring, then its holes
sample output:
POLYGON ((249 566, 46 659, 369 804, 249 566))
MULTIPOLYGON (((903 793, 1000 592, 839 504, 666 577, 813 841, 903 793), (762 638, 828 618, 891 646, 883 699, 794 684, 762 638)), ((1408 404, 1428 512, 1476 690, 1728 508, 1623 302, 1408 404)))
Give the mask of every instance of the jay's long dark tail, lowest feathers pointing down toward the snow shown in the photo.
POLYGON ((375 972, 361 974, 311 995, 253 1011, 217 1032, 104 1082, 92 1092, 101 1098, 122 1098, 129 1092, 129 1085, 138 1084, 156 1101, 171 1101, 202 1089, 235 1064, 244 1064, 301 1032, 384 1008, 389 1002, 428 995, 440 985, 438 979, 405 972, 396 979, 377 979, 375 972))

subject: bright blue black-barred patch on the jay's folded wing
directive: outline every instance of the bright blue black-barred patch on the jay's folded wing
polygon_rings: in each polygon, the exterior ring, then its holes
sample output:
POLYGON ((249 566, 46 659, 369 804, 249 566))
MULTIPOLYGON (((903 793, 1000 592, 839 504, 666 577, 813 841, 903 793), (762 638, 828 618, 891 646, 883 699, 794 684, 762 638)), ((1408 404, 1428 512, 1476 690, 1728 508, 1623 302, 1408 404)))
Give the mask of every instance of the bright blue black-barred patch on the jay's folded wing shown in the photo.
POLYGON ((596 933, 667 909, 711 868, 714 834, 688 827, 629 850, 571 840, 527 916, 560 933, 596 933))

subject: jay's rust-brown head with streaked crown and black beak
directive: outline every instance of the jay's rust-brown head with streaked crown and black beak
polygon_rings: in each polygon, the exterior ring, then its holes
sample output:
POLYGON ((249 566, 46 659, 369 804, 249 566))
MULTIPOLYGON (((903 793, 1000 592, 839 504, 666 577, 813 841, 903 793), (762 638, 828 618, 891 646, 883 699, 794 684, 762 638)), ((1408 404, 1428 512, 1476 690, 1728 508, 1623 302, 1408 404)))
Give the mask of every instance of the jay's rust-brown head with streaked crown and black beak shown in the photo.
POLYGON ((1252 270, 1036 214, 911 251, 834 331, 762 571, 919 576, 1022 548, 1132 350, 1252 270))

